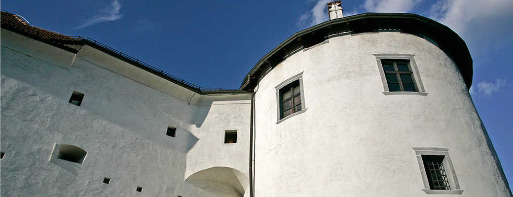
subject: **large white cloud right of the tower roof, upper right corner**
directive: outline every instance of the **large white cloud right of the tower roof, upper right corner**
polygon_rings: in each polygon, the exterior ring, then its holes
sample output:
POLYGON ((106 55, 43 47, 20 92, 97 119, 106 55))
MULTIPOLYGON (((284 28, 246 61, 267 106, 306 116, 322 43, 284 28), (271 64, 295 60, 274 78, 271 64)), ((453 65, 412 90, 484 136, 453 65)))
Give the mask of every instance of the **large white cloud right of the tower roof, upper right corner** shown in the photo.
POLYGON ((513 45, 511 10, 511 0, 440 0, 428 14, 458 33, 475 59, 487 59, 513 45))

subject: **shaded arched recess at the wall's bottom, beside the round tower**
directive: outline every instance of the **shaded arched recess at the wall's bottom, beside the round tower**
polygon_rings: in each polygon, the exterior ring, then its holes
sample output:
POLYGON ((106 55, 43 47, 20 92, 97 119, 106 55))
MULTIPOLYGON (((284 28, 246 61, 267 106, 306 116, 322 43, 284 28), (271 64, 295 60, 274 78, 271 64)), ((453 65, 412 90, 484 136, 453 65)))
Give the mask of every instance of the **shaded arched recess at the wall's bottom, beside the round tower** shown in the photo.
POLYGON ((249 178, 230 167, 211 167, 191 174, 185 182, 220 197, 243 197, 249 178))

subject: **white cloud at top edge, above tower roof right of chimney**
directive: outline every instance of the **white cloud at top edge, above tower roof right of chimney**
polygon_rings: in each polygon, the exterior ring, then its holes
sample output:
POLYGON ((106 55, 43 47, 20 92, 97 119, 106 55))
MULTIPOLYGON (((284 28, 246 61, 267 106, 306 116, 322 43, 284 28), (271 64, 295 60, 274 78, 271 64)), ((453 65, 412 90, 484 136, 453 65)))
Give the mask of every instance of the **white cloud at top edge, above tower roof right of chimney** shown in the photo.
POLYGON ((368 12, 410 12, 422 0, 366 0, 364 8, 368 12))

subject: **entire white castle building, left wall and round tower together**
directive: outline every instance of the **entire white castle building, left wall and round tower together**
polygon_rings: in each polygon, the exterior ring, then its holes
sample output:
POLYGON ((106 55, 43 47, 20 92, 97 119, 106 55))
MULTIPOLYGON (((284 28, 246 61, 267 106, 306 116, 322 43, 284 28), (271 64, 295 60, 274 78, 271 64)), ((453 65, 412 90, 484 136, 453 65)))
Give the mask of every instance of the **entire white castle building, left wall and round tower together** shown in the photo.
POLYGON ((328 10, 240 90, 2 12, 1 195, 512 196, 465 42, 416 14, 328 10))

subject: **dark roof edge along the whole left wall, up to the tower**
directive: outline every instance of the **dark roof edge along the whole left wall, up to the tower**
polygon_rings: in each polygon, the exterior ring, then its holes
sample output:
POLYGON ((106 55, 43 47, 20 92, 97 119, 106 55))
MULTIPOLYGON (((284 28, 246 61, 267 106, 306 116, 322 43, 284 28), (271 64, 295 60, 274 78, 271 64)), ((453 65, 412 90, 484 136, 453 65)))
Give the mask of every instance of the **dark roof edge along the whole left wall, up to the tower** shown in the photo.
POLYGON ((2 29, 6 29, 11 32, 32 38, 34 40, 38 40, 38 41, 47 43, 48 45, 66 50, 66 51, 74 53, 74 54, 77 54, 78 51, 80 51, 80 48, 82 46, 88 45, 88 46, 95 48, 99 51, 107 53, 110 56, 113 56, 117 59, 120 59, 122 61, 130 63, 137 68, 143 69, 143 70, 150 72, 156 76, 162 77, 168 81, 171 81, 171 82, 176 83, 182 87, 185 87, 186 89, 193 91, 197 94, 201 94, 201 95, 250 94, 250 92, 243 91, 243 90, 214 89, 214 88, 208 88, 208 87, 207 88, 200 87, 198 85, 187 82, 183 79, 175 77, 171 74, 168 74, 168 73, 166 73, 162 70, 159 70, 155 67, 152 67, 151 65, 149 65, 147 63, 139 61, 139 59, 130 57, 120 51, 112 49, 100 42, 95 41, 95 40, 80 37, 80 36, 62 35, 60 33, 56 33, 56 32, 48 31, 48 30, 41 29, 38 27, 30 26, 27 23, 25 23, 25 21, 23 21, 21 18, 19 18, 18 16, 14 15, 12 13, 2 11, 1 22, 2 22, 2 29))

